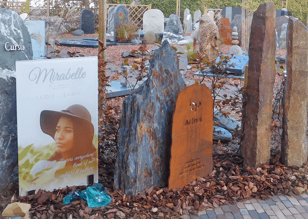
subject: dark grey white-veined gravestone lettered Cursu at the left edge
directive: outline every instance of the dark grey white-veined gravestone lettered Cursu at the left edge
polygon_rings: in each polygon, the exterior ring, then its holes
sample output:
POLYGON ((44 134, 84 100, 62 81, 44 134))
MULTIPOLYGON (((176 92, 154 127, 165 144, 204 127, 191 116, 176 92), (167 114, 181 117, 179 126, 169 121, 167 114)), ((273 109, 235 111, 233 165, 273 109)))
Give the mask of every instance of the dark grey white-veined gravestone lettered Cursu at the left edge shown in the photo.
POLYGON ((18 184, 15 61, 32 60, 31 38, 24 20, 0 8, 0 190, 18 184))

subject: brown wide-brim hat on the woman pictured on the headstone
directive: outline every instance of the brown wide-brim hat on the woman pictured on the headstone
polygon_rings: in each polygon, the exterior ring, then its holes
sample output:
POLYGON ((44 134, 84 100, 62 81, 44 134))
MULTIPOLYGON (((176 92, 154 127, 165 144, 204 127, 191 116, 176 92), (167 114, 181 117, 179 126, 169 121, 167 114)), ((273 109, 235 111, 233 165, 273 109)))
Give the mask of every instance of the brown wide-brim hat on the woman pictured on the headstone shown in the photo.
POLYGON ((54 139, 56 124, 62 116, 73 119, 74 124, 78 124, 80 128, 85 130, 85 133, 89 133, 90 137, 93 138, 94 126, 91 123, 91 115, 86 107, 79 104, 71 105, 60 112, 50 110, 42 111, 40 123, 43 133, 54 139))

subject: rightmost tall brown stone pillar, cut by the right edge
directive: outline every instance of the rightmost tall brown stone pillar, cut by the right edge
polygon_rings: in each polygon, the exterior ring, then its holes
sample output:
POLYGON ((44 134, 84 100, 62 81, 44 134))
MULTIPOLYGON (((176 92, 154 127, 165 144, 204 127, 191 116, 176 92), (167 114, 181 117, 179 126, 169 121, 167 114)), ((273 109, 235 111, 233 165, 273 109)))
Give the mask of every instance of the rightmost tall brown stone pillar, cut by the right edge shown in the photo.
POLYGON ((300 167, 307 161, 308 32, 294 17, 288 19, 286 48, 281 158, 286 166, 300 167))

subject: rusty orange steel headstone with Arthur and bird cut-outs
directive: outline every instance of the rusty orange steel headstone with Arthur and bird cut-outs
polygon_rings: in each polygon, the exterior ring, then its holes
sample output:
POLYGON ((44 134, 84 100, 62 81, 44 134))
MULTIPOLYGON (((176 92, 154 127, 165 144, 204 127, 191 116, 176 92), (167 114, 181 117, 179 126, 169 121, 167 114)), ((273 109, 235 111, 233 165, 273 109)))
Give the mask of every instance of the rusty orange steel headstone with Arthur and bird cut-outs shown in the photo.
POLYGON ((171 130, 168 186, 176 189, 213 170, 213 98, 205 84, 179 93, 171 130))

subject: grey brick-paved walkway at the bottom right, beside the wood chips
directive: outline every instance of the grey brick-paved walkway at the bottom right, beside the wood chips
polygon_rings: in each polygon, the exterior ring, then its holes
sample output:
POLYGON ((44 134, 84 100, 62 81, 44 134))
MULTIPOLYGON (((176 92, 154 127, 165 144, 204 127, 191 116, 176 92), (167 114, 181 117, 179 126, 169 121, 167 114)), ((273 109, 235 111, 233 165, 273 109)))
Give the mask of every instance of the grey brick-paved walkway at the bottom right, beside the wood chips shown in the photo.
MULTIPOLYGON (((186 219, 185 216, 181 216, 186 219)), ((250 199, 236 205, 223 205, 215 209, 190 215, 191 219, 308 219, 308 195, 277 195, 266 201, 250 199)))

